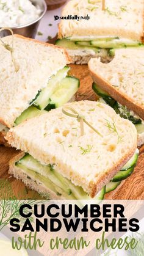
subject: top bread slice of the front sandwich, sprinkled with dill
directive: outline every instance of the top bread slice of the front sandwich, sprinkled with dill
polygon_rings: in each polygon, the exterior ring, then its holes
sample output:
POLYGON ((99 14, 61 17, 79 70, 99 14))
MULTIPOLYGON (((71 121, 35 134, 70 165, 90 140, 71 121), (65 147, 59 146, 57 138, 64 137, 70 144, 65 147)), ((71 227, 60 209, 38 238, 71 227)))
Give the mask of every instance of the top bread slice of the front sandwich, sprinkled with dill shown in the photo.
POLYGON ((78 101, 65 106, 84 115, 103 137, 85 124, 81 136, 77 119, 58 108, 11 128, 5 139, 41 164, 54 164, 60 174, 94 197, 134 154, 137 131, 106 104, 78 101), (107 122, 114 123, 117 132, 110 131, 107 122), (83 153, 82 148, 87 149, 88 145, 90 152, 83 153))

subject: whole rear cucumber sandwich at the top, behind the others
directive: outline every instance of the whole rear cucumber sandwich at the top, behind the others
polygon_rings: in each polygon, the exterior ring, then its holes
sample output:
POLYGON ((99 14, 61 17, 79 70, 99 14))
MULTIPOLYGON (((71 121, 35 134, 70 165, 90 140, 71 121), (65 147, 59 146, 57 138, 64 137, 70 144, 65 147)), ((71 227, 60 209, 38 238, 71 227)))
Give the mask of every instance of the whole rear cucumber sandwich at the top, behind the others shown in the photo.
POLYGON ((104 10, 102 0, 73 0, 63 8, 56 45, 67 49, 73 63, 87 64, 91 57, 109 62, 112 49, 143 47, 144 1, 105 2, 104 10))

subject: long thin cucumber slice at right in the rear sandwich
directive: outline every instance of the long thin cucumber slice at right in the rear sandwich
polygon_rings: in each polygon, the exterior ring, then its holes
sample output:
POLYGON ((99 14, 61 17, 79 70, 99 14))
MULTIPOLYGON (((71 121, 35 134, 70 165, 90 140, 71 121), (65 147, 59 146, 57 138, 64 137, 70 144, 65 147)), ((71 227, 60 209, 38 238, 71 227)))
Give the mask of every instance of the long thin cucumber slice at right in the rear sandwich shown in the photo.
POLYGON ((127 46, 139 46, 140 42, 135 40, 123 40, 123 39, 113 39, 113 40, 92 40, 92 46, 99 48, 124 48, 127 46))

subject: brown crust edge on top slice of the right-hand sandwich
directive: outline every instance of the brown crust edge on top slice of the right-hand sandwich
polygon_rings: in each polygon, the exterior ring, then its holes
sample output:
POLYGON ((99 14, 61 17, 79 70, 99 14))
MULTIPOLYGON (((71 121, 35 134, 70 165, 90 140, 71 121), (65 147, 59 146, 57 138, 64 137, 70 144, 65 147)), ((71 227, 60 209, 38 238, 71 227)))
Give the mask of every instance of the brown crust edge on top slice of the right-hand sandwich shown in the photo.
POLYGON ((112 98, 120 102, 120 104, 127 106, 128 109, 134 111, 137 115, 139 115, 142 119, 144 119, 144 106, 134 103, 131 98, 129 98, 126 94, 116 90, 109 82, 103 79, 98 74, 94 73, 88 64, 88 68, 90 70, 90 75, 94 82, 98 84, 101 89, 110 94, 112 98))

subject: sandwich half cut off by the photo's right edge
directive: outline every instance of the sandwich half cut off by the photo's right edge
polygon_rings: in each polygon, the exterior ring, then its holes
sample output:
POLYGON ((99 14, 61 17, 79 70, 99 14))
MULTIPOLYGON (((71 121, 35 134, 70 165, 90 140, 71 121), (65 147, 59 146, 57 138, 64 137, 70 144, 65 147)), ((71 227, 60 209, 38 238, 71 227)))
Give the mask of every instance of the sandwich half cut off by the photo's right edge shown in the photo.
POLYGON ((88 67, 93 90, 117 114, 134 123, 138 145, 144 144, 144 49, 116 49, 109 64, 91 59, 88 67))

